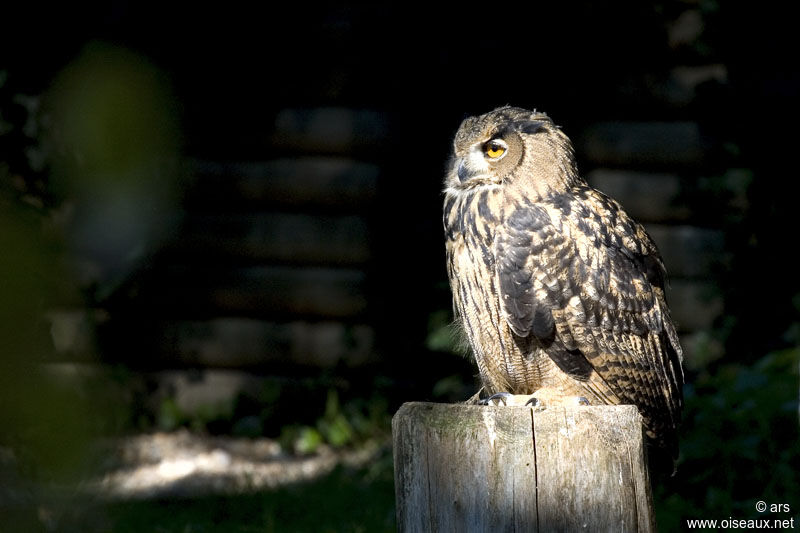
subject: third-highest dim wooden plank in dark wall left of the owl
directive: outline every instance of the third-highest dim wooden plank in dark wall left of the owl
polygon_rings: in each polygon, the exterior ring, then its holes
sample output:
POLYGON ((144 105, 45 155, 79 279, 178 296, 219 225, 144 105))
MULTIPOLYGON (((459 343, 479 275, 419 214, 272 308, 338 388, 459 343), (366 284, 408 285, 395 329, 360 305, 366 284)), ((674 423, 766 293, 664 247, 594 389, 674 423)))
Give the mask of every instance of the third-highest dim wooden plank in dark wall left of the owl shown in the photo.
POLYGON ((370 259, 368 234, 366 220, 354 215, 202 214, 187 218, 170 252, 204 261, 358 265, 370 259))

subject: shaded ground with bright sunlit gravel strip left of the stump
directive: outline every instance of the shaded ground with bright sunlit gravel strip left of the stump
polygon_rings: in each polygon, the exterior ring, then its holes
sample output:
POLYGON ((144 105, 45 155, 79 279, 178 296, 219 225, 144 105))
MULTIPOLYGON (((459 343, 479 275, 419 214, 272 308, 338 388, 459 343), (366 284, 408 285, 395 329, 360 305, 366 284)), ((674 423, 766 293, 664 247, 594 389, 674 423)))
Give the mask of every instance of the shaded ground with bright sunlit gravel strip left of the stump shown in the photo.
POLYGON ((20 491, 0 531, 394 531, 388 443, 295 456, 270 439, 156 433, 104 445, 103 473, 20 491))

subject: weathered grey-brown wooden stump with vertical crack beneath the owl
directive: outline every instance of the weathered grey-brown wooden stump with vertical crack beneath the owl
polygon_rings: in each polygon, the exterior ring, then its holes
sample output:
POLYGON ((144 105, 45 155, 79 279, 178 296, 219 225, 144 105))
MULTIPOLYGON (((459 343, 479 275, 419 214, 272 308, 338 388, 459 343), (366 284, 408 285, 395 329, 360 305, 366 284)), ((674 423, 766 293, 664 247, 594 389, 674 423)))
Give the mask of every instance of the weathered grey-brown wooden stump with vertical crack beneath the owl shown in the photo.
POLYGON ((399 531, 655 530, 635 406, 413 402, 392 434, 399 531))

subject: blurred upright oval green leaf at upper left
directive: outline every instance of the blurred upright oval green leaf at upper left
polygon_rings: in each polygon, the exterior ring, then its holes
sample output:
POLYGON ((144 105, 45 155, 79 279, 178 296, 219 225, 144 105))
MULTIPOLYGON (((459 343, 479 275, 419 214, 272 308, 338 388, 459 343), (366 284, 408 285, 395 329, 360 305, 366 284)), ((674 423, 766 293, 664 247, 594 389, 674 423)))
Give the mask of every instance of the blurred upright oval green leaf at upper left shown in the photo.
POLYGON ((50 188, 89 303, 105 300, 175 228, 182 138, 162 71, 90 42, 42 102, 50 188))

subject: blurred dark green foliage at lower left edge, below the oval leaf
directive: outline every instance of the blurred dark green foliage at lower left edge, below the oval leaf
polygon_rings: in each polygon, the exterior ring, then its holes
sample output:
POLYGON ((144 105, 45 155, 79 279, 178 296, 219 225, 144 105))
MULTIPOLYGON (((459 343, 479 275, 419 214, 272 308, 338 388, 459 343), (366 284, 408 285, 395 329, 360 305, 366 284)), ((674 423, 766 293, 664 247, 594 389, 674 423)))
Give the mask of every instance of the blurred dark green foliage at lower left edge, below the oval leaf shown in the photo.
MULTIPOLYGON (((93 464, 90 444, 104 406, 47 372, 46 312, 75 298, 40 206, 0 193, 0 529, 20 509, 61 501, 46 487, 74 482, 93 464)), ((28 516, 35 515, 27 513, 28 516)), ((35 523, 39 523, 36 521, 35 523)), ((36 529, 31 529, 36 530, 36 529)))

